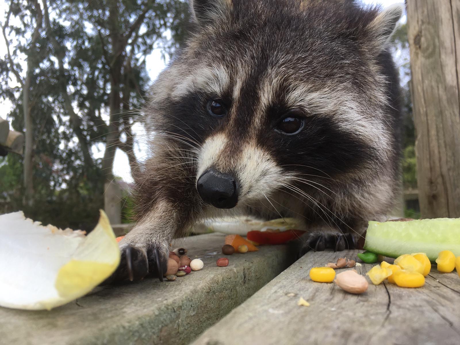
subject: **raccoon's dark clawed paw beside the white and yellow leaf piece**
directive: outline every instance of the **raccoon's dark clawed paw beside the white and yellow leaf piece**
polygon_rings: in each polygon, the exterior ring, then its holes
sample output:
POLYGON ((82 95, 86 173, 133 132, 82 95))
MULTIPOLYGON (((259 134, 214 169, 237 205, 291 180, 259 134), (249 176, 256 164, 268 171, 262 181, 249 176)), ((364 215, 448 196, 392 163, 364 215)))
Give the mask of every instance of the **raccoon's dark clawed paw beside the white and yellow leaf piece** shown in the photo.
POLYGON ((167 270, 167 256, 156 246, 141 247, 122 244, 121 260, 115 272, 103 284, 124 280, 138 281, 150 275, 163 281, 163 273, 167 270))

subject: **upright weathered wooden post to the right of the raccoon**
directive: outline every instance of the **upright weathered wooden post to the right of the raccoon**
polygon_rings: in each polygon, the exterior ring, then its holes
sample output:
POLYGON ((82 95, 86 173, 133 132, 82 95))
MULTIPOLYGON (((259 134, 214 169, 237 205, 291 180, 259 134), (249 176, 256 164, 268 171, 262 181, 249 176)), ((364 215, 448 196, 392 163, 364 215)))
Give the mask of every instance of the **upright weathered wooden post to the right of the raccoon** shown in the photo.
POLYGON ((423 218, 460 217, 460 0, 407 0, 423 218))

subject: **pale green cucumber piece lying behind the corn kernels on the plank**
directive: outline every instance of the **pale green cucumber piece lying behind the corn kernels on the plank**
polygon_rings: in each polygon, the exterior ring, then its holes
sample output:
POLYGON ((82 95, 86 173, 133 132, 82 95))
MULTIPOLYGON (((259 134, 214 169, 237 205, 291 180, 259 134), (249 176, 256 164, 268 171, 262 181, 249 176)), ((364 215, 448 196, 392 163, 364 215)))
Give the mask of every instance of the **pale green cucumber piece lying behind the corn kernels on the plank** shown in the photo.
POLYGON ((450 250, 460 255, 460 218, 420 219, 408 222, 369 222, 364 249, 397 258, 402 254, 426 253, 434 262, 437 254, 450 250))

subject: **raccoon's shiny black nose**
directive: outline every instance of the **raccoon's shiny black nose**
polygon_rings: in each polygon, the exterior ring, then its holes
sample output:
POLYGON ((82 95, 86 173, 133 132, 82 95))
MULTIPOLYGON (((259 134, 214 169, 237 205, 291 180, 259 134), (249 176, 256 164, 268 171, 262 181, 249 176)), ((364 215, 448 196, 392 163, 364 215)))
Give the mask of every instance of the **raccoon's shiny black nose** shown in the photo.
POLYGON ((233 208, 238 202, 235 178, 208 170, 196 182, 196 189, 204 202, 218 208, 233 208))

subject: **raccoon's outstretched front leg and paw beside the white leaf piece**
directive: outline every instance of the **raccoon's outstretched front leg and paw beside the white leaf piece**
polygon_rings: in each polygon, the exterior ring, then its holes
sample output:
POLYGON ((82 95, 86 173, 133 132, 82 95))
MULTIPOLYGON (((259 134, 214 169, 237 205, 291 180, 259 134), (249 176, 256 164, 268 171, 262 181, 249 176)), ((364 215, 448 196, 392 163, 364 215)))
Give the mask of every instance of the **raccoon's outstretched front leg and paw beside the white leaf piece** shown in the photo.
POLYGON ((163 280, 169 243, 184 236, 201 212, 193 161, 171 144, 163 144, 147 161, 135 186, 138 221, 121 240, 121 262, 109 282, 140 280, 147 274, 163 280))

